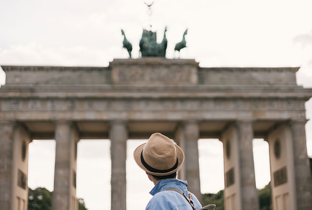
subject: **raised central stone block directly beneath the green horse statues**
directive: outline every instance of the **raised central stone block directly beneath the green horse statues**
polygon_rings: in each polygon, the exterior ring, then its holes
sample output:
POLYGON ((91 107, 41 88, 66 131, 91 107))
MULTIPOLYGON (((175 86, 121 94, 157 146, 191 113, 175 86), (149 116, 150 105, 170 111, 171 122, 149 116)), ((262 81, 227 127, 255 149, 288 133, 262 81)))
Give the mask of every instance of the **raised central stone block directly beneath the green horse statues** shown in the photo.
POLYGON ((114 85, 196 85, 198 80, 194 60, 115 59, 110 66, 114 85))

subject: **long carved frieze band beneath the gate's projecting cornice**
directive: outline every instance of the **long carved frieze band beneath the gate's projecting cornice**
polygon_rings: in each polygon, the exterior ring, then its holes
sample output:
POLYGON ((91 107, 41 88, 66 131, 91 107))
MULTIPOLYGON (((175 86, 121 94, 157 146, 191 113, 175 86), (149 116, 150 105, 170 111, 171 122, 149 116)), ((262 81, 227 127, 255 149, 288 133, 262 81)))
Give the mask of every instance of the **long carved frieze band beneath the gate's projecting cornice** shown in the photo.
POLYGON ((10 99, 2 100, 2 111, 61 110, 303 110, 302 103, 290 99, 10 99))

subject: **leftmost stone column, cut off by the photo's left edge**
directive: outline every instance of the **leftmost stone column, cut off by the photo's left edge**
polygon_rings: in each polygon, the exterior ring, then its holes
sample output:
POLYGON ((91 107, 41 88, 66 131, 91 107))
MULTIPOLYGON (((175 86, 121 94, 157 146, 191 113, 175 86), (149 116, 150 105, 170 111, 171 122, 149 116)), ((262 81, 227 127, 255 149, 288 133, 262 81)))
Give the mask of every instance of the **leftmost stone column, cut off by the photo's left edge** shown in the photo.
POLYGON ((0 121, 0 209, 11 209, 13 131, 15 123, 0 121))

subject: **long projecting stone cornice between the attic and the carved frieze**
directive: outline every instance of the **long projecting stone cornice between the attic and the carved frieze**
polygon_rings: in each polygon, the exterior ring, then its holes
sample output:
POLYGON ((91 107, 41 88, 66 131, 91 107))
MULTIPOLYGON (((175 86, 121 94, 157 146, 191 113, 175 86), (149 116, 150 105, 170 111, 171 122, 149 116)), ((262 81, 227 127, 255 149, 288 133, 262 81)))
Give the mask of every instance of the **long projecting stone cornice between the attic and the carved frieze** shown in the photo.
POLYGON ((89 87, 86 88, 74 86, 71 88, 61 89, 55 88, 0 88, 0 99, 28 99, 28 98, 71 98, 71 99, 84 99, 84 98, 242 98, 242 99, 300 99, 309 100, 312 97, 312 88, 285 88, 285 89, 273 89, 263 88, 241 88, 241 89, 205 89, 205 88, 186 88, 186 87, 157 87, 157 88, 144 88, 144 87, 128 87, 128 88, 114 88, 113 86, 103 87, 89 87))

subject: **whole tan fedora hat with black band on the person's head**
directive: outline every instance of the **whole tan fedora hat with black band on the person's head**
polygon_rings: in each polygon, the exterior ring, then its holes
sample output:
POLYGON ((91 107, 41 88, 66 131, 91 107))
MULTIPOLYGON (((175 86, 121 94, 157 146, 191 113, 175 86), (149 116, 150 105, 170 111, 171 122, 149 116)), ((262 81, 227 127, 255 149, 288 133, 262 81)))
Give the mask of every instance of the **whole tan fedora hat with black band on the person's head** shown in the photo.
POLYGON ((161 133, 154 133, 149 140, 135 148, 133 157, 147 173, 165 176, 176 172, 184 161, 182 149, 161 133))

